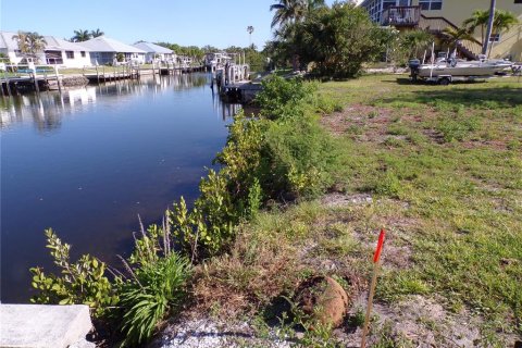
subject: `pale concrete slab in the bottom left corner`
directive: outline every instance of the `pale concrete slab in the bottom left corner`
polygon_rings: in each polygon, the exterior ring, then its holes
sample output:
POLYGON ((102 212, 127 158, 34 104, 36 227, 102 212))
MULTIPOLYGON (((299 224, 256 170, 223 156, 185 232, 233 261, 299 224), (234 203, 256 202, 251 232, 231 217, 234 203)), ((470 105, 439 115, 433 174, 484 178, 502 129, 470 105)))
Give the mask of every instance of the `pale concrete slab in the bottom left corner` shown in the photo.
POLYGON ((92 328, 84 304, 0 304, 0 347, 66 348, 92 328))

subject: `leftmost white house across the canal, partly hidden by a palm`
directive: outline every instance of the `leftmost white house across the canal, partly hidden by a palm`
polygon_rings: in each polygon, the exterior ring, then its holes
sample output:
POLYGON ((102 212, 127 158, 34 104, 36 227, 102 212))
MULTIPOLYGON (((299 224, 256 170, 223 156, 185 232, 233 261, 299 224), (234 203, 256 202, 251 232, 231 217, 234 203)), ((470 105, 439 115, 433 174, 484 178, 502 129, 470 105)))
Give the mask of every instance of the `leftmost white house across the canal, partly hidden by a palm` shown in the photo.
MULTIPOLYGON (((25 63, 28 57, 22 53, 18 42, 13 39, 16 35, 14 32, 0 32, 0 53, 5 54, 11 63, 25 63)), ((44 36, 44 51, 36 54, 39 64, 58 64, 61 67, 90 65, 88 48, 53 36, 44 36)))

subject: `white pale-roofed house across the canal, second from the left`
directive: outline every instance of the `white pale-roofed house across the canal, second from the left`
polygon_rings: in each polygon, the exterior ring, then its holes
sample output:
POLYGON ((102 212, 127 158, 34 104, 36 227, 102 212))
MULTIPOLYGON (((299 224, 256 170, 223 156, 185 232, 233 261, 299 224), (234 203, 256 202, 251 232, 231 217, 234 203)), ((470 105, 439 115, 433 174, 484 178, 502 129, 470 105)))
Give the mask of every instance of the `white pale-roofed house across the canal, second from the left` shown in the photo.
POLYGON ((83 41, 82 46, 90 50, 90 63, 92 65, 117 64, 117 63, 145 63, 146 51, 105 36, 95 37, 83 41), (123 62, 117 57, 123 54, 123 62))

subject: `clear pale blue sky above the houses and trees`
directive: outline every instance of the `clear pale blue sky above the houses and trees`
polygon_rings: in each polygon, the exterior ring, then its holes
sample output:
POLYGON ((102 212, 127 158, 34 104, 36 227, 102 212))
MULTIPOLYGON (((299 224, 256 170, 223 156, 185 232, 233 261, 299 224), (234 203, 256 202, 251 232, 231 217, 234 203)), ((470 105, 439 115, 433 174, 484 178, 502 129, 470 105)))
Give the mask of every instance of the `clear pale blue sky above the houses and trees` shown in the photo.
MULTIPOLYGON (((126 44, 169 41, 183 46, 262 48, 272 38, 269 8, 275 0, 0 0, 0 29, 71 38, 75 29, 100 28, 126 44)), ((326 0, 328 4, 333 0, 326 0)))

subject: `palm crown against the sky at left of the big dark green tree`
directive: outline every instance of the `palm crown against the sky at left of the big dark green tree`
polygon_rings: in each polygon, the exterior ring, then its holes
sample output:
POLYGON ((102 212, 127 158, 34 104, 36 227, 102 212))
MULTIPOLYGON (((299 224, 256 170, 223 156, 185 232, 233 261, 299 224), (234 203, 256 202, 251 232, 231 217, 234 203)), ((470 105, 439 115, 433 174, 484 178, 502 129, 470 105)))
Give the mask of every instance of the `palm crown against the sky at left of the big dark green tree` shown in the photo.
POLYGON ((270 11, 275 10, 272 20, 272 27, 299 22, 307 14, 324 5, 324 0, 279 0, 278 3, 270 5, 270 11))

